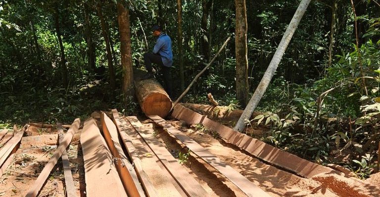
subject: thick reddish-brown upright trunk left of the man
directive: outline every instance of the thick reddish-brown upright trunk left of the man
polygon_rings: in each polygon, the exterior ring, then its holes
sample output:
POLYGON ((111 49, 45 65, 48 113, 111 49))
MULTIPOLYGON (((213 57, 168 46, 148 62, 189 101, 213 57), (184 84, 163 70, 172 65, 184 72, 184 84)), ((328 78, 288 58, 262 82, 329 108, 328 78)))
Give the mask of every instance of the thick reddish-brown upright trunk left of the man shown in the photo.
POLYGON ((123 69, 122 95, 127 104, 128 97, 134 95, 133 89, 133 67, 131 51, 131 29, 129 22, 129 10, 121 1, 117 3, 117 21, 120 31, 121 67, 123 69))

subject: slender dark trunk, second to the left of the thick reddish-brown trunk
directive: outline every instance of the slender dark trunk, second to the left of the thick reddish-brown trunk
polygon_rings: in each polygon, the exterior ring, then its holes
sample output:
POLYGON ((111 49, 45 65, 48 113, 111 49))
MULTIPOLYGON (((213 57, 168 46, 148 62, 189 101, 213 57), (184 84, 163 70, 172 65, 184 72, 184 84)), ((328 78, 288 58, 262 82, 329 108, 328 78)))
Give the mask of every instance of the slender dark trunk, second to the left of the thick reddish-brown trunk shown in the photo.
POLYGON ((85 36, 86 36, 86 42, 87 42, 87 61, 89 68, 93 71, 96 71, 95 66, 95 46, 93 42, 93 33, 92 33, 92 27, 91 27, 91 18, 90 18, 90 8, 87 3, 83 3, 84 6, 84 12, 85 12, 85 36))

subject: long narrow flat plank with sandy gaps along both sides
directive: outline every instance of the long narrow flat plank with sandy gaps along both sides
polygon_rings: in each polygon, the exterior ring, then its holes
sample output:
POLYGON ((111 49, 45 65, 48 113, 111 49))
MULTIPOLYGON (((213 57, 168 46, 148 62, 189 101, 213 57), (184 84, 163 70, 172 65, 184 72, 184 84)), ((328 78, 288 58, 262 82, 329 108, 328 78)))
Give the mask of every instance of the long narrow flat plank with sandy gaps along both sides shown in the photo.
POLYGON ((174 135, 183 144, 185 144, 191 152, 200 157, 207 164, 217 169, 220 173, 226 176, 232 183, 234 183, 244 194, 248 197, 270 197, 258 186, 249 181, 246 177, 238 173, 230 165, 226 164, 218 157, 214 156, 207 149, 203 148, 197 142, 192 140, 187 135, 183 134, 181 131, 174 128, 171 124, 167 123, 164 119, 159 116, 149 116, 156 124, 162 126, 170 134, 174 135))

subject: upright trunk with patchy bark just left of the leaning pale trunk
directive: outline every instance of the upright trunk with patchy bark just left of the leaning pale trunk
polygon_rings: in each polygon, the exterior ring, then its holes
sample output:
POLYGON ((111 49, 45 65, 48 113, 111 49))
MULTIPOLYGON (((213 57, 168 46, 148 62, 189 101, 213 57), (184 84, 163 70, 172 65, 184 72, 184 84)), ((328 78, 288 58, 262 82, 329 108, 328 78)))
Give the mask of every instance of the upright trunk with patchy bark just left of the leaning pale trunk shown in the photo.
POLYGON ((248 101, 248 55, 247 55, 247 11, 245 0, 235 0, 236 29, 236 98, 244 107, 248 101))

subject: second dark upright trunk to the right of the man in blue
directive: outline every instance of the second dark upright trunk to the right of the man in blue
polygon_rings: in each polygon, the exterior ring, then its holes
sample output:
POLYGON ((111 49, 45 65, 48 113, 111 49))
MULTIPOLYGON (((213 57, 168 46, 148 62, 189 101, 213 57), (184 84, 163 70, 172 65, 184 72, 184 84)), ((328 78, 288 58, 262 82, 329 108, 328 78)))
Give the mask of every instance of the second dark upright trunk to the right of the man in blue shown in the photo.
POLYGON ((204 56, 205 60, 209 59, 209 52, 208 52, 208 31, 207 31, 207 19, 209 14, 209 9, 211 5, 211 0, 202 0, 202 20, 200 24, 200 28, 202 29, 202 37, 200 38, 200 47, 201 47, 201 53, 204 56))

